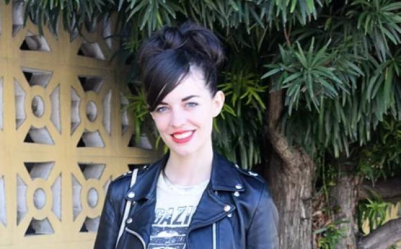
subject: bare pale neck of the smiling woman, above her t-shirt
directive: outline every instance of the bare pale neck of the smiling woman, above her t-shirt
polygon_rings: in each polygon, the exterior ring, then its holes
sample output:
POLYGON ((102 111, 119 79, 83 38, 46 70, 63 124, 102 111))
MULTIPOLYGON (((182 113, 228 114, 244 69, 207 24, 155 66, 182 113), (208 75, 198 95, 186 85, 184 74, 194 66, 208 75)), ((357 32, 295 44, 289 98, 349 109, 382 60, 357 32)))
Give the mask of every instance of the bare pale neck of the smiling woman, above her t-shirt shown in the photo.
POLYGON ((212 142, 210 142, 209 146, 205 146, 196 151, 196 153, 186 156, 181 156, 171 151, 165 167, 165 174, 173 184, 197 185, 210 178, 212 161, 212 142))

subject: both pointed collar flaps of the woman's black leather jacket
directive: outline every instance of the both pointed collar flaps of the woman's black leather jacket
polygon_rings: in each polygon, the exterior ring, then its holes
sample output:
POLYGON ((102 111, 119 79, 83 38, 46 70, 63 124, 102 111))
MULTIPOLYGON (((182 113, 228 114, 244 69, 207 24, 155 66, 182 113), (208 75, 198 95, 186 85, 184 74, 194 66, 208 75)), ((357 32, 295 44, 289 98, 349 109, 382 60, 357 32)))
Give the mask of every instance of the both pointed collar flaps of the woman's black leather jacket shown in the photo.
MULTIPOLYGON (((143 174, 138 175, 136 184, 130 188, 126 194, 126 199, 131 201, 138 201, 140 199, 151 199, 156 195, 156 187, 158 183, 158 176, 162 168, 165 167, 169 153, 165 154, 158 162, 153 163, 147 167, 143 174), (133 192, 134 195, 129 194, 133 192), (133 197, 128 197, 133 196, 133 197)), ((214 152, 212 161, 212 175, 210 177, 210 184, 212 191, 232 191, 243 192, 244 185, 239 170, 234 169, 233 163, 225 159, 220 154, 214 152)))

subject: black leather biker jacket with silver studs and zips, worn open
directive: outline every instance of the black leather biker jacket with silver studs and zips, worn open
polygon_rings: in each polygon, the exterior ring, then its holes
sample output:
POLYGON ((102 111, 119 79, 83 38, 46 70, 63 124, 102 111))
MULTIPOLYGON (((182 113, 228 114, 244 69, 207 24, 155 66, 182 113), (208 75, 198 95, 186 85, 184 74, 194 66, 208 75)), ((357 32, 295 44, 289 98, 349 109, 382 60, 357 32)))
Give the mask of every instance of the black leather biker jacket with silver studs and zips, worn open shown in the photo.
MULTIPOLYGON (((147 248, 155 219, 156 184, 167 158, 140 169, 131 189, 131 174, 110 184, 95 249, 115 248, 128 196, 133 196, 129 214, 132 220, 127 223, 117 248, 147 248)), ((209 185, 187 230, 187 248, 278 248, 277 222, 277 209, 265 182, 215 153, 209 185)))

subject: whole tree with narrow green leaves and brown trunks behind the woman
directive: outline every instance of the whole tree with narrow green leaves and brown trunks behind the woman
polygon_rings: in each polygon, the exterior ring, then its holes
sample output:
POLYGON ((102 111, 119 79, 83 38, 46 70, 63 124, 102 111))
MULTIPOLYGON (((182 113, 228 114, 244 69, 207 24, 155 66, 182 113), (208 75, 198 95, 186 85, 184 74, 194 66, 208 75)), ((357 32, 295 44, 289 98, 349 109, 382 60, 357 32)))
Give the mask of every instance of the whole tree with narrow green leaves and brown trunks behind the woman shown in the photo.
MULTIPOLYGON (((216 147, 269 179, 280 213, 281 248, 357 248, 357 193, 365 177, 377 180, 369 175, 377 173, 368 160, 369 141, 384 138, 377 128, 384 121, 401 120, 399 1, 17 2, 24 2, 26 19, 39 30, 49 24, 56 31, 61 20, 76 33, 117 13, 115 35, 133 54, 141 39, 165 24, 192 19, 212 28, 229 58, 221 74, 227 104, 216 120, 214 136, 221 141, 216 147), (330 188, 328 178, 337 184, 330 188), (344 238, 313 239, 314 200, 321 192, 333 222, 315 234, 338 228, 344 238)), ((138 102, 136 107, 141 110, 138 102)), ((399 168, 398 148, 380 162, 398 158, 393 165, 399 168)))

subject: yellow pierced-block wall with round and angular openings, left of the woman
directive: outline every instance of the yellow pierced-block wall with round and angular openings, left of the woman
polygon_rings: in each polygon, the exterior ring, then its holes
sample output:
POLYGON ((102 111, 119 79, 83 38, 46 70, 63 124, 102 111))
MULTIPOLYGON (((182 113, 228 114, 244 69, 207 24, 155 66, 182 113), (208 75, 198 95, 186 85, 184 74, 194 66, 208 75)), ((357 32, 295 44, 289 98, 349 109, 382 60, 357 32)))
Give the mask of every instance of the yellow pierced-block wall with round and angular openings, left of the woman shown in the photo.
POLYGON ((111 179, 157 155, 131 146, 111 25, 71 42, 22 12, 0 1, 0 248, 92 248, 111 179))

